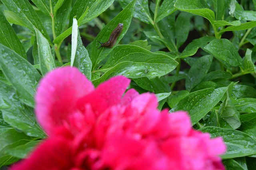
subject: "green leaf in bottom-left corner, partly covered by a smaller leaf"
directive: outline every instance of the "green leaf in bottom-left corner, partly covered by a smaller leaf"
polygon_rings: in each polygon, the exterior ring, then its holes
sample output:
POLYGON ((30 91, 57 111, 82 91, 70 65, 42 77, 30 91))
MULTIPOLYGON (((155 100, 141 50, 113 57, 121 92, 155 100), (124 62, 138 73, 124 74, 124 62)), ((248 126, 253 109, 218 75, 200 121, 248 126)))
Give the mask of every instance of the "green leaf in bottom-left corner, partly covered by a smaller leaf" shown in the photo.
POLYGON ((3 165, 10 165, 18 160, 8 154, 8 151, 16 146, 24 145, 33 138, 26 136, 26 134, 17 132, 14 129, 7 130, 0 134, 0 167, 3 165))

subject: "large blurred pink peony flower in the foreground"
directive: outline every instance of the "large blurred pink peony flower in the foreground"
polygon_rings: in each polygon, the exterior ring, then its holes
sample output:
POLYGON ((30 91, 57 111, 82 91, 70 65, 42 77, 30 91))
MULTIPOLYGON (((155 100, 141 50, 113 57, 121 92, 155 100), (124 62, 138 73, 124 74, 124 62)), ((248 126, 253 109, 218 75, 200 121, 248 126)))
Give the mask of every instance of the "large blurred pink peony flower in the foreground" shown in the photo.
POLYGON ((48 73, 36 117, 49 135, 13 170, 224 170, 221 138, 193 130, 189 116, 159 112, 154 94, 125 94, 113 77, 96 89, 76 68, 48 73))

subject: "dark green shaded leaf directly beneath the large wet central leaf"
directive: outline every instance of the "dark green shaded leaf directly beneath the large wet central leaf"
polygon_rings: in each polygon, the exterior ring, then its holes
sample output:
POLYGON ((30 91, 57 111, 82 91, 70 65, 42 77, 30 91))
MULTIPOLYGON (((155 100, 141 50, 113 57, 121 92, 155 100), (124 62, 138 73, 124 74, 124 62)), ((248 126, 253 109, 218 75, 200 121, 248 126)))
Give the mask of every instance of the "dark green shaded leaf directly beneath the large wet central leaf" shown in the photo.
POLYGON ((165 81, 164 77, 156 77, 154 79, 142 77, 138 79, 133 79, 133 81, 142 89, 145 89, 152 93, 166 93, 171 91, 170 86, 165 81))

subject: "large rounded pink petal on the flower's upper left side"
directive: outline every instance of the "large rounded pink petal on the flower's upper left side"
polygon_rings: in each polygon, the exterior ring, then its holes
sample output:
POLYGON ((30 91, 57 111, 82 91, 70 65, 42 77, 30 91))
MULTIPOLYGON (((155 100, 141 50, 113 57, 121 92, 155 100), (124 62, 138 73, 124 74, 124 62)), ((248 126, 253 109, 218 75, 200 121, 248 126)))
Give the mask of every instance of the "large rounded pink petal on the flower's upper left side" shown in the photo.
POLYGON ((50 135, 72 113, 78 99, 94 90, 92 83, 74 67, 57 68, 40 81, 36 93, 36 117, 50 135))

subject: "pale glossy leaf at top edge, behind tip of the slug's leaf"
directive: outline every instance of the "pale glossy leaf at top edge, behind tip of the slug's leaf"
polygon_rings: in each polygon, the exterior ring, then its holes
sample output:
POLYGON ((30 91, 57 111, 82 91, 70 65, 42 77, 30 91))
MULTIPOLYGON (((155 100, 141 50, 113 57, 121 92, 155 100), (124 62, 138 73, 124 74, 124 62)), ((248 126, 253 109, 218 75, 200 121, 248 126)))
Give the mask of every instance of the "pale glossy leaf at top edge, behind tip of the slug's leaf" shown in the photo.
MULTIPOLYGON (((132 2, 132 0, 119 0, 120 5, 122 8, 128 5, 128 3, 132 2)), ((145 22, 146 24, 154 24, 149 8, 148 8, 148 1, 147 0, 136 0, 135 9, 134 9, 134 18, 145 22)))

